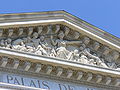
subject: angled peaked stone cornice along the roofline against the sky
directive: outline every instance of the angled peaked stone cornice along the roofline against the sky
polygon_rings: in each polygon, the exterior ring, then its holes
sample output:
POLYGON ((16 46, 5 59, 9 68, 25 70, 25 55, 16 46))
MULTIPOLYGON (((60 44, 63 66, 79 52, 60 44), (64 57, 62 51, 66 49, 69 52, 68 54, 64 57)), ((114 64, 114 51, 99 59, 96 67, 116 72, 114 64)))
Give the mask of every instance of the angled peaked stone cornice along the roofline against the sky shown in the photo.
POLYGON ((105 45, 120 51, 120 39, 109 33, 65 12, 51 11, 38 13, 3 14, 0 15, 0 28, 26 27, 45 24, 64 24, 88 35, 105 45))

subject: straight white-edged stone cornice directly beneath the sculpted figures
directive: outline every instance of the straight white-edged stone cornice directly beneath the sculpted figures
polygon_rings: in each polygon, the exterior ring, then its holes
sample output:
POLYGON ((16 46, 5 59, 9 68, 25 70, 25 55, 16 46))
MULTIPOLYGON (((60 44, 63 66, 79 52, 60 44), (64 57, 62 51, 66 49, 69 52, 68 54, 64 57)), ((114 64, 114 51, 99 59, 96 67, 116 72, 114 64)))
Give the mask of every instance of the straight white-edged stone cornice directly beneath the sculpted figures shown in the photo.
POLYGON ((71 68, 74 70, 83 70, 86 72, 93 71, 94 73, 100 73, 103 75, 110 75, 113 77, 120 77, 119 70, 104 68, 104 67, 97 67, 97 66, 91 66, 87 64, 77 63, 74 61, 68 61, 64 59, 58 59, 58 58, 52 58, 52 57, 46 57, 42 55, 36 55, 26 52, 19 52, 15 50, 9 50, 0 48, 0 55, 1 56, 7 56, 10 58, 18 58, 23 61, 31 61, 34 63, 43 63, 43 64, 50 64, 53 66, 60 66, 64 68, 71 68))

